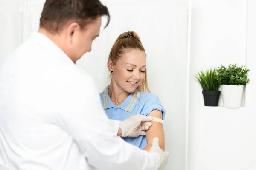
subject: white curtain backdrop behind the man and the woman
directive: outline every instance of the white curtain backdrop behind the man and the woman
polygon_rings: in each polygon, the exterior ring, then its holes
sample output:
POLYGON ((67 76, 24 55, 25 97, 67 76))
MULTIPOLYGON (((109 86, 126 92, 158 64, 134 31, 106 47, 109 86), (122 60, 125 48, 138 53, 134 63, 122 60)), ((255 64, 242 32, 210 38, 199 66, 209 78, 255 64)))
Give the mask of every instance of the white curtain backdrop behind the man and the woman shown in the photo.
MULTIPOLYGON (((4 23, 0 28, 0 64, 32 31, 37 31, 43 3, 37 0, 30 1, 29 6, 12 3, 10 6, 20 8, 19 13, 13 13, 14 8, 11 11, 0 8, 9 12, 3 13, 7 17, 0 17, 4 23)), ((102 91, 108 78, 106 63, 111 46, 122 32, 136 31, 147 53, 149 87, 166 108, 164 130, 166 151, 170 153, 166 170, 184 170, 188 1, 104 0, 103 3, 111 14, 110 25, 93 42, 92 52, 77 64, 93 75, 99 92, 102 91)))

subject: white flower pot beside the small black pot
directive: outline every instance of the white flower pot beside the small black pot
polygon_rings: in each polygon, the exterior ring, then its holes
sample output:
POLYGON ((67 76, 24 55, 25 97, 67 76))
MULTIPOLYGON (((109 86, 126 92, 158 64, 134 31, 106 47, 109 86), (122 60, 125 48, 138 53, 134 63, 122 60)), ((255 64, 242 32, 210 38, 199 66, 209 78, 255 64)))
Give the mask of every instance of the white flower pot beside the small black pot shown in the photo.
POLYGON ((221 95, 225 108, 240 108, 244 85, 221 85, 221 95))

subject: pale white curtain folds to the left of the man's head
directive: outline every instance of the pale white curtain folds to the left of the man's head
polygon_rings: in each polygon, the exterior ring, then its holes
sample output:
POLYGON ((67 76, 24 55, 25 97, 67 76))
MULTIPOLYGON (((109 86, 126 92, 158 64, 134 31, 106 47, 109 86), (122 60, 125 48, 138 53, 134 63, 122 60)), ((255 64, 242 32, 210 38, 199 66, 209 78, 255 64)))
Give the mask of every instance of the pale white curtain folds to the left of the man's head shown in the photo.
POLYGON ((0 1, 0 66, 4 59, 39 28, 44 2, 0 1))

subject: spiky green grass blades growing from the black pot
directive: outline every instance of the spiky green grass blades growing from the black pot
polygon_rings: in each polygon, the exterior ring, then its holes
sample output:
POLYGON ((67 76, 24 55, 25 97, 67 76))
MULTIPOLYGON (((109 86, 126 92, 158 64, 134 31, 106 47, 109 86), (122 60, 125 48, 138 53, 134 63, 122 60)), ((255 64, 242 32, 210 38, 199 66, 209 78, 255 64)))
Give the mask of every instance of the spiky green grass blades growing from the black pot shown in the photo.
POLYGON ((195 78, 204 91, 218 91, 220 84, 217 79, 218 75, 215 68, 198 71, 195 78))

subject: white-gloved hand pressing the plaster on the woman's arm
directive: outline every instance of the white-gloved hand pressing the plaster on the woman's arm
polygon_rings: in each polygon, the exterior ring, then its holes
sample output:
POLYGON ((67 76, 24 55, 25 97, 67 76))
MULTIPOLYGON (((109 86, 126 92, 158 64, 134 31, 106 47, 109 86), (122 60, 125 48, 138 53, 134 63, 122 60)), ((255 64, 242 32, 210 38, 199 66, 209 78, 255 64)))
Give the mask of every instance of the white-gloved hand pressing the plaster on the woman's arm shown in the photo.
POLYGON ((153 117, 144 115, 132 115, 120 121, 119 127, 122 130, 122 137, 138 137, 146 135, 146 130, 152 126, 153 117))

